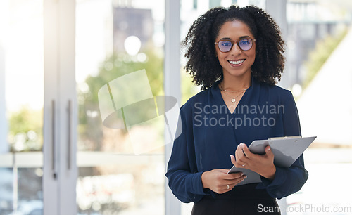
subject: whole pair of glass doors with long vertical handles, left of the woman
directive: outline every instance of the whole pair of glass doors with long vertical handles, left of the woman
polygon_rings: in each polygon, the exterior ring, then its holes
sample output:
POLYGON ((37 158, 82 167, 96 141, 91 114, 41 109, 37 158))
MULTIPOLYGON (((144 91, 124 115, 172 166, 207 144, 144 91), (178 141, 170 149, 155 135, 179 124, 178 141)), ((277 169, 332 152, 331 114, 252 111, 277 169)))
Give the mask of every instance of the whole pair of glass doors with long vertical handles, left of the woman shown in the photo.
POLYGON ((0 214, 165 214, 164 17, 161 0, 0 2, 0 214))

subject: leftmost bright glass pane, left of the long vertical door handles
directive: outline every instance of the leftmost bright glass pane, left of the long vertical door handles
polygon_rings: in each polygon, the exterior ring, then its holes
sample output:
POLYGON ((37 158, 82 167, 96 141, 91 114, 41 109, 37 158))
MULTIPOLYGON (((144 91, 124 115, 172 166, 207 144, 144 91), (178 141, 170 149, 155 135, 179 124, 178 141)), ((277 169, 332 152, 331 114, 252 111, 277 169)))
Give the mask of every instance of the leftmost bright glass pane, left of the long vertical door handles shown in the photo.
POLYGON ((43 1, 0 1, 0 214, 42 214, 43 1))

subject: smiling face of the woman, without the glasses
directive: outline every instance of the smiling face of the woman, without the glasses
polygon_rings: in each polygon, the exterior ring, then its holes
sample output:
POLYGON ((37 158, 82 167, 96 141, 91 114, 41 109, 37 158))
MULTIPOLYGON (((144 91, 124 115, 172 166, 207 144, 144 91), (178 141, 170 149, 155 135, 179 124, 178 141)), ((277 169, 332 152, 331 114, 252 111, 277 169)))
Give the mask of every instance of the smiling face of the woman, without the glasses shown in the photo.
MULTIPOLYGON (((220 39, 239 41, 246 38, 256 39, 244 22, 234 20, 222 25, 215 41, 220 39)), ((251 66, 256 59, 255 41, 253 41, 253 46, 248 51, 241 50, 237 43, 232 46, 230 51, 225 53, 219 50, 218 44, 215 45, 215 49, 216 56, 218 56, 219 63, 222 66, 224 79, 230 77, 243 78, 251 75, 251 66)))

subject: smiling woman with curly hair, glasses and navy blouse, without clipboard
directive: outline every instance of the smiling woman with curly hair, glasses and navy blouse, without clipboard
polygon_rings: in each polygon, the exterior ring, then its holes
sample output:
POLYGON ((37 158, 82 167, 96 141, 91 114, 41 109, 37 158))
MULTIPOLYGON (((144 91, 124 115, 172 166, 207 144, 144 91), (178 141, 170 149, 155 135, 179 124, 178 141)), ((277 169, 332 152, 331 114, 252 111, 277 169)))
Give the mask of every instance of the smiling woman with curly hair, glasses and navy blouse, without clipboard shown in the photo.
POLYGON ((166 176, 172 193, 194 202, 192 214, 280 214, 276 198, 300 190, 308 178, 303 155, 275 167, 248 150, 254 140, 300 136, 290 91, 275 86, 284 70, 279 27, 260 8, 212 8, 183 41, 186 70, 203 91, 180 109, 182 134, 174 141, 166 176), (236 167, 260 174, 260 183, 237 185, 236 167))

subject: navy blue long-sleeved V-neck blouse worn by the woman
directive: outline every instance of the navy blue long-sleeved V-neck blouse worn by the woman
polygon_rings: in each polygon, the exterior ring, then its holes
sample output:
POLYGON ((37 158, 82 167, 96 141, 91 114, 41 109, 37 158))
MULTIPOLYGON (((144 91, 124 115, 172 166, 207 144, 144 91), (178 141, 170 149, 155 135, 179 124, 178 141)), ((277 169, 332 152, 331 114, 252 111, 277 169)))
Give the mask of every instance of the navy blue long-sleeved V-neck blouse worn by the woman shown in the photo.
MULTIPOLYGON (((203 189, 201 174, 212 169, 230 169, 230 155, 239 143, 279 136, 301 136, 296 103, 290 91, 269 86, 252 78, 231 113, 222 99, 218 82, 201 91, 180 108, 182 133, 175 139, 166 176, 172 193, 182 202, 199 202, 211 195, 251 197, 249 191, 260 191, 272 198, 282 198, 300 190, 306 183, 303 155, 289 168, 276 167, 275 179, 260 176, 261 183, 239 185, 219 195, 203 189), (253 189, 247 190, 246 189, 253 189), (236 193, 237 190, 245 190, 236 193)), ((253 194, 254 195, 254 194, 253 194)))

